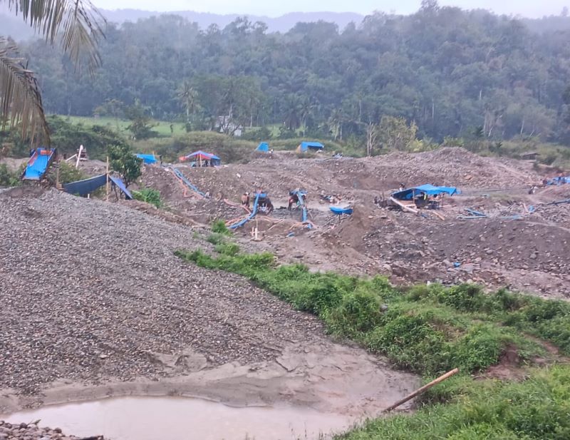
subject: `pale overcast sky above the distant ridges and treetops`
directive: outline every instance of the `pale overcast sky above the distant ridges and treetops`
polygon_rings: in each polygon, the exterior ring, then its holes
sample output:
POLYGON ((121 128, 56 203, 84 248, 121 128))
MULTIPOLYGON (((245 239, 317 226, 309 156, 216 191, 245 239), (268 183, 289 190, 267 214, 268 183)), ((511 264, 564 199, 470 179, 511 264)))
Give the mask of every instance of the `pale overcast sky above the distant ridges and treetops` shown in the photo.
MULTIPOLYGON (((417 11, 421 0, 92 0, 103 9, 145 9, 147 11, 198 11, 215 14, 254 14, 280 16, 287 12, 336 11, 369 14, 379 10, 398 14, 417 11)), ((440 5, 464 9, 484 8, 497 14, 529 17, 558 15, 570 0, 440 0, 440 5)))

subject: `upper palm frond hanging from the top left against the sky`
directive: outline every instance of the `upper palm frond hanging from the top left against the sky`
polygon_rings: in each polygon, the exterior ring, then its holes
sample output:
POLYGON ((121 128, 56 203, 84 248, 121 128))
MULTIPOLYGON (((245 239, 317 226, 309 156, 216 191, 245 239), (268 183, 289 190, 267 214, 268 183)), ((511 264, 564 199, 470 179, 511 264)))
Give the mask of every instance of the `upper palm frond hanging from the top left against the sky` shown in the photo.
POLYGON ((103 37, 105 19, 89 0, 0 0, 16 15, 45 36, 50 44, 59 41, 76 66, 81 66, 83 55, 88 68, 100 66, 98 41, 103 37))

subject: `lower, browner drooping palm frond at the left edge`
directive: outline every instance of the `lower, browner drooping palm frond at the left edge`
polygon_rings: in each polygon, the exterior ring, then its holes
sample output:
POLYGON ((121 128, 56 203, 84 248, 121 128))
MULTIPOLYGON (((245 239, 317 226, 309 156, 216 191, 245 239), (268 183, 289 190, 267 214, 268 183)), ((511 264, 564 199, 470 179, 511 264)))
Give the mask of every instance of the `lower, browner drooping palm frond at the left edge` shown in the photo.
POLYGON ((49 145, 38 81, 18 57, 16 46, 0 36, 0 127, 18 123, 22 137, 38 137, 49 145))

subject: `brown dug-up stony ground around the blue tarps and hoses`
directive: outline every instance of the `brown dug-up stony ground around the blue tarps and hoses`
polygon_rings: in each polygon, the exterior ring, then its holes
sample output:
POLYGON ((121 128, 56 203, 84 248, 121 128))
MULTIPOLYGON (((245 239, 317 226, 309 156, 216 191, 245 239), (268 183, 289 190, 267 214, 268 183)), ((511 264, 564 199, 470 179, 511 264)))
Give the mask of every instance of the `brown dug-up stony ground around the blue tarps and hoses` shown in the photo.
POLYGON ((286 205, 293 188, 309 190, 309 219, 276 209, 257 216, 238 236, 246 247, 269 250, 283 262, 304 262, 315 270, 373 275, 393 282, 480 282, 490 288, 511 287, 547 297, 570 297, 570 263, 564 249, 570 241, 570 204, 546 205, 570 198, 570 185, 539 188, 532 183, 555 175, 521 160, 483 158, 461 148, 428 153, 392 153, 375 158, 299 159, 289 153, 258 158, 245 165, 189 168, 176 165, 200 190, 199 199, 185 190, 168 170, 146 167, 144 185, 157 188, 167 205, 202 225, 217 218, 243 218, 240 196, 248 191, 269 193, 276 208, 286 205), (456 186, 462 195, 446 198, 440 220, 429 211, 402 213, 374 205, 400 183, 456 186), (339 221, 321 193, 336 195, 339 205, 355 208, 339 221), (536 210, 529 214, 529 206, 536 210), (459 220, 465 208, 489 218, 459 220), (519 220, 509 219, 519 215, 519 220), (252 242, 252 227, 261 241, 252 242))

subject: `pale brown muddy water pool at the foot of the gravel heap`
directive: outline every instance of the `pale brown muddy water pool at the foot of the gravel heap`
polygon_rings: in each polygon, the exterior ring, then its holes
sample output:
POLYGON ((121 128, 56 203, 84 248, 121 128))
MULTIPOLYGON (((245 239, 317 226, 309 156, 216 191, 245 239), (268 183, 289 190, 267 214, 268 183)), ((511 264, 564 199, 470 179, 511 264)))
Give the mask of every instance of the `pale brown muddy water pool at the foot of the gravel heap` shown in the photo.
POLYGON ((312 440, 348 429, 354 419, 293 406, 236 408, 184 397, 121 397, 44 406, 0 416, 21 423, 41 419, 76 436, 112 440, 312 440))

